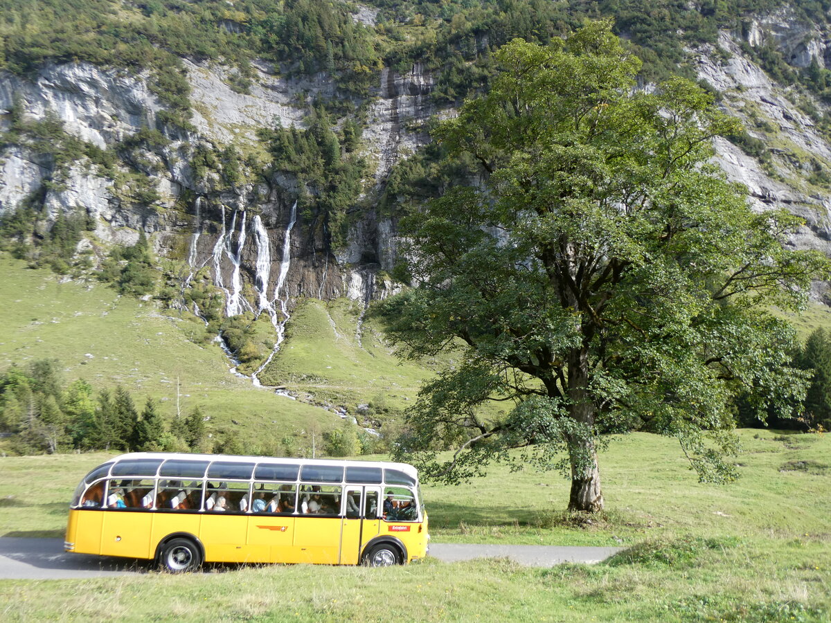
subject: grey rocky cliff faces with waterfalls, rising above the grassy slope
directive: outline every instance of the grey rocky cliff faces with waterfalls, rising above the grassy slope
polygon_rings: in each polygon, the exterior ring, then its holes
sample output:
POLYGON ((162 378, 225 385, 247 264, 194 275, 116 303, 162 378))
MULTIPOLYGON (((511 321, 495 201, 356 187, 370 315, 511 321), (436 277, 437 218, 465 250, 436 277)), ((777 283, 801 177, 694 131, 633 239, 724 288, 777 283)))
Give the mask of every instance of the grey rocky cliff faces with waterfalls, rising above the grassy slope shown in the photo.
MULTIPOLYGON (((371 24, 374 14, 367 9, 358 18, 371 24)), ((747 186, 755 208, 784 206, 805 219, 795 246, 831 254, 831 191, 816 175, 831 169, 831 145, 802 105, 819 104, 772 81, 747 53, 747 46, 773 44, 795 67, 812 61, 824 67, 831 66, 831 42, 788 10, 759 17, 742 32, 721 32, 717 46, 688 51, 698 76, 722 94, 725 110, 765 142, 766 159, 760 159, 718 140, 719 164, 747 186)), ((368 301, 392 292, 386 271, 396 258, 396 223, 381 215, 375 200, 394 164, 429 140, 425 121, 437 112, 433 76, 417 63, 405 74, 387 67, 368 99, 350 96, 352 109, 363 115, 359 150, 371 173, 349 210, 347 235, 333 243, 326 223, 293 212, 299 189, 292 176, 243 175, 223 184, 194 164, 199 150, 225 145, 243 155, 262 153, 258 128, 302 127, 311 101, 342 97, 332 79, 324 73, 288 79, 255 61, 248 92, 238 92, 229 86, 228 68, 188 60, 184 67, 193 104, 187 130, 160 115, 165 105, 142 74, 87 63, 47 65, 27 78, 0 74, 3 129, 13 110, 27 120, 57 118, 66 135, 119 155, 115 168, 105 170, 85 158, 58 162, 24 140, 7 143, 0 155, 0 213, 27 202, 41 204, 50 218, 81 208, 105 242, 130 243, 143 229, 158 253, 188 265, 187 279, 201 270, 221 288, 229 314, 276 309, 284 299, 291 307, 295 297, 368 301), (165 145, 130 144, 143 128, 160 130, 165 145), (140 183, 150 185, 152 201, 136 200, 140 183)))

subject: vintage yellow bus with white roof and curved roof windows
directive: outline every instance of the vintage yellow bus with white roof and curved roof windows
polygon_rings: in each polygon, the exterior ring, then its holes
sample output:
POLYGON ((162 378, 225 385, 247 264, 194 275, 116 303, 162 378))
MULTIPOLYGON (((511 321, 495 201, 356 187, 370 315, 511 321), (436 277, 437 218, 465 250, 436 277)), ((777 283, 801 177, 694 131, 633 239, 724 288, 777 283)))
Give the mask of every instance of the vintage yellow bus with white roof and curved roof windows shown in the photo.
POLYGON ((132 453, 81 480, 67 552, 202 562, 386 567, 426 556, 412 465, 224 454, 132 453))

